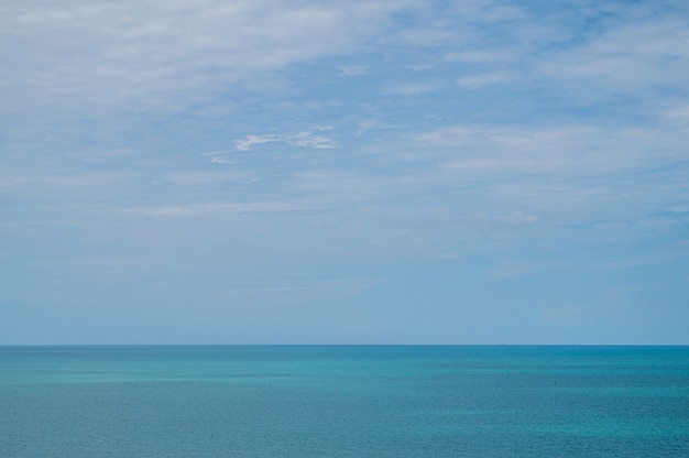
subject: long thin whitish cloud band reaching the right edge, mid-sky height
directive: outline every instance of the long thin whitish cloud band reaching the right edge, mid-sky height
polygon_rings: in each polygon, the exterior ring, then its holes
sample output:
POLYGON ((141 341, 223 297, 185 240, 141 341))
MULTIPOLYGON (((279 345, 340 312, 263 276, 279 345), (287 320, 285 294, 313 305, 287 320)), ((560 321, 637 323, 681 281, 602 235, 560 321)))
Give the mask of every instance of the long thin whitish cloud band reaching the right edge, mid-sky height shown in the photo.
MULTIPOLYGON (((661 126, 661 124, 659 124, 661 126)), ((414 140, 455 154, 448 166, 488 167, 500 161, 510 167, 532 166, 562 172, 628 171, 683 160, 679 149, 687 132, 674 129, 564 124, 458 124, 425 133, 414 140)))

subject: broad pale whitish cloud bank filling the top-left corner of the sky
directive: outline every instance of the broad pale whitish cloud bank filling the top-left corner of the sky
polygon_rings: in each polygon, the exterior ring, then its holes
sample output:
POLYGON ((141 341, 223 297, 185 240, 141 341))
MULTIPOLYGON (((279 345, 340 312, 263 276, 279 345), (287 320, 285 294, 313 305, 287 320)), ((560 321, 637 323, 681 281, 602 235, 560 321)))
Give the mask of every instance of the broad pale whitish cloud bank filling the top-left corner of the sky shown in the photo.
POLYGON ((189 102, 258 72, 356 51, 407 3, 26 1, 2 8, 0 39, 12 46, 0 52, 0 76, 6 96, 34 102, 189 102))

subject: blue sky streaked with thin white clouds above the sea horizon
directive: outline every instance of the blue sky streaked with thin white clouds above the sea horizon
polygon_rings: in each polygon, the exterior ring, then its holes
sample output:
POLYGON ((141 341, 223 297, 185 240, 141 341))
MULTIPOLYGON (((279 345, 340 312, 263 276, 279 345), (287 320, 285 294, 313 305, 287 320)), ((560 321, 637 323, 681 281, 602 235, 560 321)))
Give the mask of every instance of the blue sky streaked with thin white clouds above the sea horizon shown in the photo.
POLYGON ((0 1, 0 344, 689 344, 689 2, 0 1))

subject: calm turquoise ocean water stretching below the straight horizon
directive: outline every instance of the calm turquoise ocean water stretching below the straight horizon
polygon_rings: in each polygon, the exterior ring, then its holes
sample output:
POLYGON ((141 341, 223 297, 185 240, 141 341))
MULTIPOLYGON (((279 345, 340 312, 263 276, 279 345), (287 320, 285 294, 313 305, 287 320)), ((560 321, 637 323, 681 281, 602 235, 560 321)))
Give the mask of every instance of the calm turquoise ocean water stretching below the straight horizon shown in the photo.
POLYGON ((0 347, 0 457, 689 457, 689 347, 0 347))

